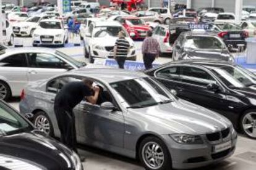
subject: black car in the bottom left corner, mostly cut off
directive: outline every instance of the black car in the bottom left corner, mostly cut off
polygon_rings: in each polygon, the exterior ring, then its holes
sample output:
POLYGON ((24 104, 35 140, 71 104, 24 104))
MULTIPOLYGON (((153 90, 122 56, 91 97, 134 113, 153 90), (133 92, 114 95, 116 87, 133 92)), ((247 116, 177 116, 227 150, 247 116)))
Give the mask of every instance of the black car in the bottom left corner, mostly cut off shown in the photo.
POLYGON ((0 101, 0 169, 82 170, 79 156, 0 101))

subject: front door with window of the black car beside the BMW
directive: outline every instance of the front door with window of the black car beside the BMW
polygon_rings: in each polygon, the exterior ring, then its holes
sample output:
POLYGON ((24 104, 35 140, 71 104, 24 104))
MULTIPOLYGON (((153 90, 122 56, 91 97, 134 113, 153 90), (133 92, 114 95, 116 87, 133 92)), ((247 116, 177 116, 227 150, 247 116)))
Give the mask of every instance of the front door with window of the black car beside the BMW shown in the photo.
POLYGON ((181 67, 181 86, 177 96, 184 100, 201 105, 219 113, 227 109, 226 94, 222 86, 206 70, 197 67, 181 67), (220 91, 207 89, 208 84, 217 84, 220 91))

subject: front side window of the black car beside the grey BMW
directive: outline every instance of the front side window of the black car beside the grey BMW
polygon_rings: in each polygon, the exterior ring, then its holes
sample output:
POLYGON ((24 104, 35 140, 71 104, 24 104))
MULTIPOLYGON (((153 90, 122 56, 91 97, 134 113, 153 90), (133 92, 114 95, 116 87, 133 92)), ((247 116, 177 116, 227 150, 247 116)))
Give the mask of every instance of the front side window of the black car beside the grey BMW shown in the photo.
POLYGON ((210 83, 216 83, 215 79, 207 71, 194 67, 181 67, 181 81, 197 86, 207 87, 210 83))

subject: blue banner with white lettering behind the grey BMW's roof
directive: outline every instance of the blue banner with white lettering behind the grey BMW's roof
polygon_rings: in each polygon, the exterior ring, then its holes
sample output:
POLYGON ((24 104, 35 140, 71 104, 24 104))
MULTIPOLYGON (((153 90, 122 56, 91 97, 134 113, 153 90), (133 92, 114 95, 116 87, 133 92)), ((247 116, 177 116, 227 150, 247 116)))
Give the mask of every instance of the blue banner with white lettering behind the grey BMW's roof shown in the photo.
MULTIPOLYGON (((109 67, 118 68, 116 60, 113 59, 106 59, 105 65, 109 67)), ((158 64, 153 64, 153 67, 158 67, 158 64)), ((130 71, 145 70, 145 66, 143 62, 134 62, 126 60, 126 63, 124 63, 124 69, 130 71)))

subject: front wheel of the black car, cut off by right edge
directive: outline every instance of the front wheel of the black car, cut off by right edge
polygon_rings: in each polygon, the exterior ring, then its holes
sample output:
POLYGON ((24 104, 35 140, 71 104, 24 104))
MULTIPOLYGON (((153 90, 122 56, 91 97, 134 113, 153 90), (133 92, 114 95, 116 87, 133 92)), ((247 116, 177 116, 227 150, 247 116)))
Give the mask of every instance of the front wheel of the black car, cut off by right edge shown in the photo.
POLYGON ((241 131, 250 139, 256 139, 256 110, 247 110, 240 119, 241 131))

